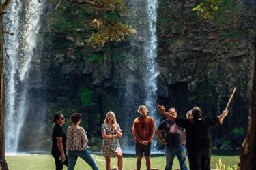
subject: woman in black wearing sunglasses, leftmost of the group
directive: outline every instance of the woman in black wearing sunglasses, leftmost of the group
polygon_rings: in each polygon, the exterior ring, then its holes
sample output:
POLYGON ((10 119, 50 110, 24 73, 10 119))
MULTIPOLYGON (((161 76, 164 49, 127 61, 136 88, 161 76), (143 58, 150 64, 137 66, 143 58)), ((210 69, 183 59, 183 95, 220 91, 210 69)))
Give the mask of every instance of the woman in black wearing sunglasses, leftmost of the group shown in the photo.
POLYGON ((65 118, 62 114, 55 114, 53 117, 55 126, 52 133, 52 150, 51 154, 55 159, 56 170, 62 170, 63 165, 68 167, 68 156, 66 155, 66 133, 62 129, 65 124, 65 118))

